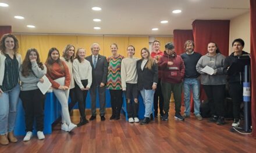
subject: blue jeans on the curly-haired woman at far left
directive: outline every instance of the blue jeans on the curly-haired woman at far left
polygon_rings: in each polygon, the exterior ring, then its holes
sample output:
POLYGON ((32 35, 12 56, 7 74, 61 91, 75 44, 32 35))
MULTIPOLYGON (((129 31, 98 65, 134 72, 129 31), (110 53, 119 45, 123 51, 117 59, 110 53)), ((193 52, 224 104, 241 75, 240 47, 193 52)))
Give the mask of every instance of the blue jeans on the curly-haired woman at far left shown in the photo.
POLYGON ((19 93, 20 85, 17 83, 15 88, 0 97, 0 135, 14 130, 19 93))

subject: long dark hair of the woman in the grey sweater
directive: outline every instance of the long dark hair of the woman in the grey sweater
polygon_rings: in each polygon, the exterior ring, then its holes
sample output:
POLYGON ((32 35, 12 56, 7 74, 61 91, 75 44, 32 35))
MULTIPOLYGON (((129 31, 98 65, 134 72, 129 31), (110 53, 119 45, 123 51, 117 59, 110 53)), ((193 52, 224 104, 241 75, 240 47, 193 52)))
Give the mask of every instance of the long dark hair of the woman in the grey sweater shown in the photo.
POLYGON ((30 56, 31 52, 35 52, 37 54, 37 64, 38 64, 38 67, 40 67, 42 70, 44 70, 44 65, 40 61, 40 57, 39 57, 39 54, 37 52, 37 49, 30 48, 30 49, 27 50, 25 59, 23 60, 23 63, 22 63, 22 75, 24 77, 29 76, 29 72, 31 72, 31 70, 32 70, 32 68, 31 68, 31 61, 29 59, 29 56, 30 56))

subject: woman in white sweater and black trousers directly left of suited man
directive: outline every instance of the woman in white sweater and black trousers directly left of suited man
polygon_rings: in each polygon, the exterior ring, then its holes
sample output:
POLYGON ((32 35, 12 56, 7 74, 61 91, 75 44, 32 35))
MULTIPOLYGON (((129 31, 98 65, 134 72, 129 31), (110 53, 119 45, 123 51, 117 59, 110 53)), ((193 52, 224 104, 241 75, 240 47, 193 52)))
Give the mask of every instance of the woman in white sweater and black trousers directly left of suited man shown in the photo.
POLYGON ((86 96, 91 87, 92 82, 92 68, 89 61, 85 59, 86 51, 83 48, 77 49, 76 59, 73 61, 73 76, 75 80, 76 98, 78 101, 80 122, 77 126, 82 126, 88 123, 86 119, 86 96))

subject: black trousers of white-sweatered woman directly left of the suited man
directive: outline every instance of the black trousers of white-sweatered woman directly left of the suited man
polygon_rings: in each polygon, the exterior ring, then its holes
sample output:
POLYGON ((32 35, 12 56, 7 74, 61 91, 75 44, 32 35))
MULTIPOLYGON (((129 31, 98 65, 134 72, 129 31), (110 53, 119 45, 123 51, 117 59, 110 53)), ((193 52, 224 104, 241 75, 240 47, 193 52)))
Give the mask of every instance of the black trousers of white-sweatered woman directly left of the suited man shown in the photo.
MULTIPOLYGON (((84 88, 86 88, 88 84, 88 80, 81 80, 84 88)), ((81 116, 86 116, 86 96, 88 93, 88 90, 81 90, 80 87, 76 84, 75 85, 75 91, 76 91, 76 99, 78 101, 78 108, 81 116)))

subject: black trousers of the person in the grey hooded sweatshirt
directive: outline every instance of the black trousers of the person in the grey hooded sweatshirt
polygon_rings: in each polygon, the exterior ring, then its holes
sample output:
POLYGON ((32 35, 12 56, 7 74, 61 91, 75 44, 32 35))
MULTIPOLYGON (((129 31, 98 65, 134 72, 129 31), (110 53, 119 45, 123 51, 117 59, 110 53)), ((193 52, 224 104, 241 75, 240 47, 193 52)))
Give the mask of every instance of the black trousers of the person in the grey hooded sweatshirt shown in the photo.
POLYGON ((224 116, 225 85, 202 85, 211 108, 211 115, 224 116))

